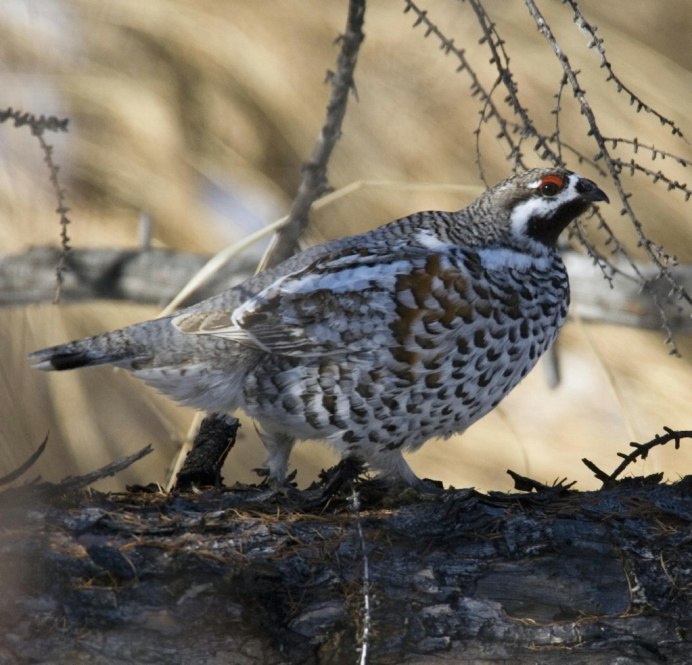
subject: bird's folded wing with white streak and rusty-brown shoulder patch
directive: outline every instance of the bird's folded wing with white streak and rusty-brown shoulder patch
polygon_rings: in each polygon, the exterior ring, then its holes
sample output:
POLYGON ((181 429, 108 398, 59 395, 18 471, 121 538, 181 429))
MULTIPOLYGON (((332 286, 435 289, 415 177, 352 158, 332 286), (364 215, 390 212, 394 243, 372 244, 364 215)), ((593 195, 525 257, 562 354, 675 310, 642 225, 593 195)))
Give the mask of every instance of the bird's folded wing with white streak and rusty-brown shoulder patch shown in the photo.
POLYGON ((444 253, 420 245, 341 248, 278 278, 233 311, 191 312, 173 323, 184 333, 279 355, 369 352, 425 334, 423 328, 449 330, 470 306, 467 278, 444 253))

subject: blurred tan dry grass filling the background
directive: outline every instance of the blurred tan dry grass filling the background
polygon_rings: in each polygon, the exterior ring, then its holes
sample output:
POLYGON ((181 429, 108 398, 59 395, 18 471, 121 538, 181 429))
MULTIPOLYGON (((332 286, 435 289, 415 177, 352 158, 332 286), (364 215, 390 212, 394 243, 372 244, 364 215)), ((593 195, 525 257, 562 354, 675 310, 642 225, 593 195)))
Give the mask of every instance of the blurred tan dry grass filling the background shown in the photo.
MULTIPOLYGON (((689 145, 655 120, 634 113, 603 81, 586 37, 560 3, 543 3, 568 49, 602 129, 638 136, 690 157, 689 145), (686 154, 685 154, 686 153, 686 154)), ((627 11, 583 0, 605 38, 620 76, 645 100, 692 135, 692 58, 687 0, 631 0, 627 11), (644 27, 646 29, 644 29, 644 27)), ((430 0, 430 17, 467 49, 490 86, 488 54, 467 5, 430 0)), ((480 186, 473 131, 478 107, 456 63, 411 28, 401 3, 371 3, 343 137, 330 165, 335 187, 353 181, 457 183, 480 186)), ((523 3, 487 0, 507 40, 519 92, 541 129, 550 131, 561 72, 527 18, 523 3)), ((155 222, 155 242, 214 252, 284 214, 323 119, 334 38, 345 3, 304 0, 6 0, 0 5, 2 106, 69 116, 67 135, 48 136, 68 186, 70 229, 78 246, 132 246, 141 210, 155 222)), ((584 123, 564 103, 564 137, 592 154, 584 123)), ((482 138, 490 181, 508 166, 494 131, 482 138)), ((527 158, 530 146, 524 146, 527 158)), ((35 140, 0 126, 0 251, 57 241, 55 200, 35 140)), ((681 169, 666 162, 674 178, 681 169)), ((586 175, 598 177, 588 167, 586 175)), ((689 176, 687 176, 689 178, 689 176)), ((633 203, 647 231, 681 260, 692 261, 689 209, 676 193, 636 181, 633 203)), ((607 189, 607 187, 606 187, 607 189)), ((372 228, 424 208, 456 209, 468 193, 363 187, 322 210, 313 239, 372 228)), ((608 221, 633 244, 617 204, 608 221), (620 220, 623 220, 622 222, 620 220)), ((259 251, 259 250, 258 250, 259 251)), ((635 250, 636 253, 636 250, 635 250)), ((607 288, 604 283, 604 287, 607 288)), ((28 456, 50 432, 37 470, 58 479, 130 453, 147 442, 155 459, 107 484, 163 480, 192 412, 132 380, 99 368, 45 375, 30 370, 26 352, 155 316, 153 308, 92 303, 3 310, 0 323, 0 473, 28 456)), ((507 488, 505 469, 542 480, 595 481, 579 460, 611 469, 616 452, 662 425, 692 427, 692 342, 684 359, 667 354, 663 335, 570 323, 561 339, 564 381, 547 388, 535 372, 493 414, 461 439, 430 443, 412 456, 419 474, 456 486, 507 488)), ((311 480, 333 461, 320 444, 304 444, 294 462, 311 480)), ((226 480, 251 480, 262 462, 252 425, 230 456, 226 480)), ((692 450, 660 449, 634 469, 668 477, 692 470, 692 450)))

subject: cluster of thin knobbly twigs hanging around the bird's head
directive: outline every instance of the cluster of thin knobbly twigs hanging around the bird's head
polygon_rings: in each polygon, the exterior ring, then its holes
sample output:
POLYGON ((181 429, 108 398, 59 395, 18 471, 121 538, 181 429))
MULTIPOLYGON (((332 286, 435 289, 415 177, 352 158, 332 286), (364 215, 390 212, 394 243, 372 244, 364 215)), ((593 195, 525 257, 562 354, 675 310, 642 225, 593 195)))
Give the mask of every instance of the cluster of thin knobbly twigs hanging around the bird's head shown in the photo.
MULTIPOLYGON (((585 31, 590 37, 590 48, 596 48, 601 56, 601 67, 606 68, 608 72, 608 80, 615 81, 619 92, 626 92, 630 96, 630 101, 632 104, 636 105, 637 110, 644 110, 648 113, 653 114, 658 120, 665 125, 671 127, 673 134, 676 136, 682 136, 680 129, 670 120, 665 118, 655 109, 643 102, 634 92, 632 92, 613 72, 612 66, 605 58, 605 49, 603 46, 603 40, 598 37, 596 32, 596 27, 591 25, 581 14, 577 3, 575 0, 565 0, 566 3, 570 5, 572 11, 574 12, 574 21, 578 26, 585 31)), ((664 249, 651 241, 644 233, 641 222, 637 218, 634 210, 630 205, 629 198, 631 194, 624 191, 622 181, 620 179, 620 173, 623 169, 629 169, 632 172, 633 167, 631 163, 617 159, 608 152, 608 145, 612 144, 612 149, 615 149, 618 142, 630 143, 634 145, 635 152, 638 147, 642 146, 636 139, 612 139, 610 137, 605 137, 600 132, 600 129, 596 123, 596 117, 593 113, 587 99, 584 90, 580 87, 578 82, 578 72, 576 72, 570 65, 569 60, 561 49, 557 40, 552 34, 549 25, 545 22, 542 15, 540 14, 536 4, 533 0, 526 0, 526 5, 529 9, 529 13, 536 22, 540 32, 552 46, 555 55, 557 56, 560 64, 563 68, 563 76, 560 82, 560 87, 556 95, 556 105, 552 110, 555 115, 555 132, 551 136, 544 135, 540 133, 533 119, 531 118, 528 109, 523 106, 519 100, 518 87, 514 80, 513 73, 510 69, 510 57, 506 49, 504 40, 500 37, 496 25, 489 16, 485 6, 481 0, 469 0, 473 11, 476 14, 478 20, 482 37, 481 44, 486 44, 490 50, 491 64, 494 64, 497 72, 498 78, 495 80, 490 89, 483 87, 478 75, 469 63, 469 59, 463 48, 456 46, 454 40, 447 37, 430 19, 428 12, 421 9, 413 0, 404 0, 404 11, 412 11, 416 14, 416 21, 414 27, 418 25, 425 26, 425 36, 434 35, 440 42, 440 48, 445 52, 445 54, 453 54, 459 60, 460 65, 457 71, 466 72, 471 78, 471 93, 473 96, 480 98, 482 103, 482 108, 480 110, 480 119, 478 127, 475 130, 476 134, 476 162, 479 166, 480 176, 483 182, 485 180, 485 174, 482 167, 481 150, 480 150, 480 132, 484 124, 494 120, 499 126, 499 133, 497 134, 497 139, 504 141, 509 147, 509 154, 507 155, 508 161, 512 164, 513 170, 519 168, 527 168, 524 162, 524 156, 521 151, 521 145, 527 138, 535 138, 536 142, 533 146, 534 152, 542 159, 547 160, 553 164, 563 164, 563 154, 564 150, 569 150, 570 153, 574 154, 579 161, 579 163, 587 162, 594 169, 596 169, 601 175, 608 175, 611 177, 615 188, 618 191, 620 200, 622 202, 621 214, 627 215, 632 221, 633 226, 637 232, 639 238, 639 245, 645 249, 649 254, 654 265, 656 265, 660 274, 668 281, 671 286, 671 292, 668 298, 677 297, 681 300, 687 300, 692 302, 692 298, 687 293, 687 291, 675 281, 673 275, 670 272, 669 265, 675 263, 675 258, 666 254, 664 249), (517 122, 512 122, 502 115, 502 111, 499 109, 497 104, 493 101, 493 95, 499 87, 504 87, 507 91, 507 95, 504 98, 504 102, 509 106, 511 111, 517 116, 517 122), (582 115, 584 115, 589 124, 589 135, 593 136, 598 145, 599 151, 594 159, 589 159, 585 155, 581 154, 571 146, 562 142, 560 136, 560 112, 562 111, 562 99, 564 97, 564 90, 566 88, 571 89, 575 99, 580 105, 580 110, 582 115), (518 137, 518 138, 517 138, 518 137), (601 166, 601 162, 604 166, 601 166)), ((664 157, 663 151, 656 150, 655 148, 649 148, 651 152, 652 159, 656 156, 664 157)), ((667 154, 667 153, 665 153, 667 154)), ((670 155, 678 164, 687 166, 687 160, 670 155)), ((640 171, 647 175, 654 183, 660 182, 665 184, 668 189, 675 189, 681 191, 686 200, 689 198, 692 192, 685 184, 681 184, 672 178, 667 177, 661 172, 656 172, 651 169, 647 169, 645 166, 636 165, 634 170, 640 171)), ((486 183, 487 184, 487 183, 486 183)), ((599 231, 605 233, 605 244, 610 249, 612 254, 621 255, 632 269, 632 274, 642 285, 643 289, 649 288, 649 282, 641 275, 638 271, 635 261, 630 257, 629 252, 622 246, 622 244, 617 239, 616 235, 611 230, 610 226, 606 223, 603 216, 596 211, 595 215, 598 219, 597 228, 599 231)), ((606 278, 608 278, 609 270, 606 266, 610 264, 610 261, 604 258, 599 252, 596 251, 595 247, 585 241, 584 234, 582 230, 577 231, 577 237, 580 241, 584 241, 584 247, 591 254, 596 263, 600 266, 606 278)), ((619 270, 618 270, 619 271, 619 270)), ((630 275, 631 277, 631 275, 630 275)), ((671 353, 678 355, 677 347, 673 339, 672 328, 670 322, 666 318, 664 303, 661 301, 660 293, 652 293, 652 297, 656 301, 656 306, 659 310, 661 317, 662 326, 667 333, 666 342, 671 348, 671 353)))

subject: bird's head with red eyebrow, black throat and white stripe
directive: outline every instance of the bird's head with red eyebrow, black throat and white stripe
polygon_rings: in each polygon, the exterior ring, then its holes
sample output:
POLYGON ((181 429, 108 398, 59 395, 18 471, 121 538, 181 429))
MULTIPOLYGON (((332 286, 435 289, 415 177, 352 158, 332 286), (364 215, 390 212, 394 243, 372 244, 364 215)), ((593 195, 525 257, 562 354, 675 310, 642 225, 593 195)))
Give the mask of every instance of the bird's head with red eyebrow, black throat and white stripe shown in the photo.
POLYGON ((476 205, 503 237, 554 246, 565 227, 596 201, 608 203, 596 183, 566 169, 543 168, 503 180, 476 205))

